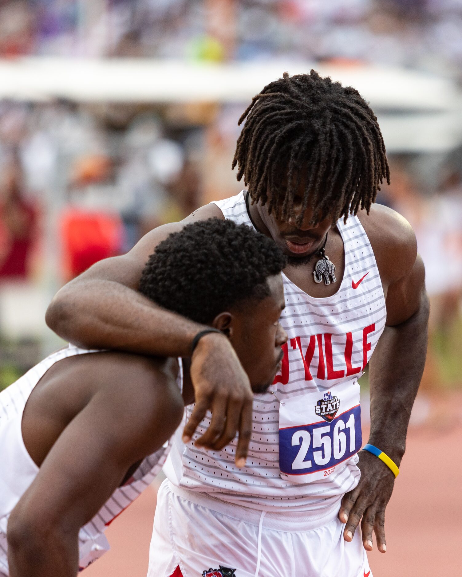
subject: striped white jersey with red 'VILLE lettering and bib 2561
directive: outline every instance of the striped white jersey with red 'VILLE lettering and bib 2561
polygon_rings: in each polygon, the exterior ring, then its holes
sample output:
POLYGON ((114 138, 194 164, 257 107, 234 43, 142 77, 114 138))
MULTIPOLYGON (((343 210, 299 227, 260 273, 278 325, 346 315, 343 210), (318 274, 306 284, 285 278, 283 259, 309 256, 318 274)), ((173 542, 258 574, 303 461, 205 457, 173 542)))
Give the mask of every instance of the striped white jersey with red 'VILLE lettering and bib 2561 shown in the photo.
MULTIPOLYGON (((225 218, 252 226, 244 192, 215 204, 225 218)), ((338 220, 337 228, 345 272, 333 296, 310 297, 283 275, 281 325, 289 340, 281 373, 269 392, 255 395, 247 466, 234 465, 236 439, 222 451, 207 451, 185 447, 176 434, 164 468, 174 485, 247 507, 297 507, 320 518, 357 485, 362 442, 357 378, 385 327, 386 309, 359 219, 338 220)), ((189 417, 191 407, 186 413, 189 417)), ((196 436, 205 432, 210 417, 196 436)))

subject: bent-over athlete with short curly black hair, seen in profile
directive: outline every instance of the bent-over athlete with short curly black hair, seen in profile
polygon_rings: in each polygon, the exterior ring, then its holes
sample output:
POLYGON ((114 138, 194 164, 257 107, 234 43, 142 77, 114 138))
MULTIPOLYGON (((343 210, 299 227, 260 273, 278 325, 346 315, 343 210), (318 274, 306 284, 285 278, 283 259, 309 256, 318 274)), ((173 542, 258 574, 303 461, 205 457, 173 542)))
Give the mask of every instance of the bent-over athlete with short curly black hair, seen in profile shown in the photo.
MULTIPOLYGON (((287 338, 285 264, 262 234, 209 219, 159 243, 140 293, 206 325, 190 347, 211 331, 232 344, 261 394, 287 338)), ((0 393, 0 575, 73 577, 107 550, 106 526, 155 478, 193 400, 188 364, 69 345, 0 393)))

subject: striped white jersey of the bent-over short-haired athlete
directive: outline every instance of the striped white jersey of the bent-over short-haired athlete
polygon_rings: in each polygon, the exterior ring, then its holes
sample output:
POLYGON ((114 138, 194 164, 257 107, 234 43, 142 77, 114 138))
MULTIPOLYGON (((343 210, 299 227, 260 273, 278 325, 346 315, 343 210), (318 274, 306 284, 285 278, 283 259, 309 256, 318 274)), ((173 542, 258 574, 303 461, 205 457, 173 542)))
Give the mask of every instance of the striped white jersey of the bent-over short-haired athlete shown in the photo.
MULTIPOLYGON (((35 385, 56 362, 73 355, 97 352, 99 351, 79 349, 69 344, 65 349, 51 354, 10 387, 0 392, 0 575, 2 572, 5 575, 9 574, 6 527, 10 512, 39 471, 25 448, 21 432, 21 421, 27 399, 35 385)), ((181 389, 181 359, 178 386, 181 389)), ((87 567, 109 549, 109 543, 104 535, 106 527, 139 496, 141 491, 150 485, 161 470, 169 450, 170 441, 144 459, 128 484, 116 489, 98 514, 81 528, 79 533, 80 569, 87 567)))

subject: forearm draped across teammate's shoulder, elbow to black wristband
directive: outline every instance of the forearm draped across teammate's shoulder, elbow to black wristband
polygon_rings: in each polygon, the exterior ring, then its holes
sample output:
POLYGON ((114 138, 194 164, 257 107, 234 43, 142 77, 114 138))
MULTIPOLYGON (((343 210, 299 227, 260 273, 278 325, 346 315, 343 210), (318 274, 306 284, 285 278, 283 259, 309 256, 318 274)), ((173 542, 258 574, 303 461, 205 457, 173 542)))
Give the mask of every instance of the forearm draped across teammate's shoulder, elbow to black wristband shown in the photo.
POLYGON ((111 280, 70 283, 55 296, 47 324, 63 339, 88 349, 116 349, 166 357, 191 354, 203 325, 161 309, 111 280))

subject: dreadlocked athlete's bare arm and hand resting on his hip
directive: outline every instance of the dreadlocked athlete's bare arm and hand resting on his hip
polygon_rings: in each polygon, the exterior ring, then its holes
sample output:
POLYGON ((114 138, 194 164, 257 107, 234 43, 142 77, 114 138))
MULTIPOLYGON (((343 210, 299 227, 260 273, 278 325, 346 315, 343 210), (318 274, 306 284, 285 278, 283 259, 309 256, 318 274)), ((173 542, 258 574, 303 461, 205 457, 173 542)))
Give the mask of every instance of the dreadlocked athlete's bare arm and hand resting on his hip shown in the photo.
MULTIPOLYGON (((429 300, 412 228, 389 209, 377 207, 376 212, 380 224, 374 232, 367 232, 386 291, 387 321, 370 361, 368 442, 399 467, 426 358, 429 300)), ((385 552, 385 508, 392 494, 394 475, 381 460, 365 451, 360 453, 359 467, 360 482, 345 495, 340 510, 341 520, 348 519, 345 538, 351 540, 362 518, 364 547, 372 549, 374 530, 378 548, 385 552)))

